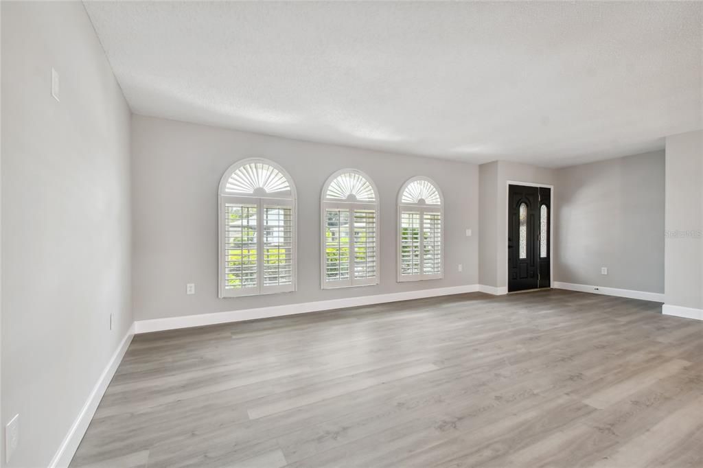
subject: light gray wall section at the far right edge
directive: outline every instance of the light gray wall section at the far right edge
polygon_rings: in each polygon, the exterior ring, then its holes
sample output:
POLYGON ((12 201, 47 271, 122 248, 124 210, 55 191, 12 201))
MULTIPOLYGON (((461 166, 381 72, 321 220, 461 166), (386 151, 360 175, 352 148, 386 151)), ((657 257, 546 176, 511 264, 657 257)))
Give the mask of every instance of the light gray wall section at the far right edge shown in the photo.
POLYGON ((703 309, 703 130, 666 137, 665 302, 703 309))

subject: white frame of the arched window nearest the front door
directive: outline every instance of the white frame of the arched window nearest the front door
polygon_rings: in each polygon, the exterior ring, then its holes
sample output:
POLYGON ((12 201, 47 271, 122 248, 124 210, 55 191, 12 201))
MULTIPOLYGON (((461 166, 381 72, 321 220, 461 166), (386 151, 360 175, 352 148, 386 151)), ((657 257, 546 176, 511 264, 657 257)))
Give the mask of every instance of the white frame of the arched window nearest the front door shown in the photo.
POLYGON ((421 281, 421 280, 441 280, 444 278, 444 251, 446 245, 444 245, 444 195, 442 195, 441 190, 436 182, 431 178, 425 176, 415 176, 409 178, 403 186, 401 186, 398 193, 397 200, 397 217, 396 217, 396 273, 398 282, 407 281, 421 281), (431 183, 437 193, 439 194, 439 205, 429 204, 424 202, 418 203, 407 203, 403 202, 403 194, 408 186, 415 181, 427 181, 431 183), (402 240, 401 236, 403 233, 403 228, 401 226, 401 216, 403 212, 419 212, 420 213, 420 274, 418 275, 403 275, 401 274, 401 261, 402 261, 402 240), (440 242, 440 252, 439 252, 439 273, 425 273, 424 268, 424 223, 425 223, 425 213, 437 213, 439 211, 440 222, 439 222, 439 242, 440 242))

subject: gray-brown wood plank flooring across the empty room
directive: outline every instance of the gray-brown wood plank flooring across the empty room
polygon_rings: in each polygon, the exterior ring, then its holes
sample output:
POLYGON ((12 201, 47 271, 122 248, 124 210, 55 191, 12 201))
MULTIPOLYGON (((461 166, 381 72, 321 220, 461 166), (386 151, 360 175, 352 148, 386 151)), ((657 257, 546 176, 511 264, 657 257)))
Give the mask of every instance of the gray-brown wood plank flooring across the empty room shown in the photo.
POLYGON ((143 334, 74 467, 702 467, 703 322, 545 290, 143 334))

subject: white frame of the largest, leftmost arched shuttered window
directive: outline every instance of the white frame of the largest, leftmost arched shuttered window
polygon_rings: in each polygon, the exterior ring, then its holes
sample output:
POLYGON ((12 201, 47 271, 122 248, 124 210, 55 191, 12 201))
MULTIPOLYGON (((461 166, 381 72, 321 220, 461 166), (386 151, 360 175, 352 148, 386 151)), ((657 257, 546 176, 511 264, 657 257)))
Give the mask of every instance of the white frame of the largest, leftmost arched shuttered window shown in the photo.
POLYGON ((220 299, 228 297, 259 296, 264 294, 276 294, 279 292, 294 292, 297 290, 297 193, 295 183, 288 171, 280 167, 271 160, 262 158, 249 158, 232 164, 224 172, 217 189, 217 224, 218 224, 218 269, 217 269, 217 290, 220 299), (226 186, 232 174, 247 164, 266 164, 283 174, 290 186, 290 193, 266 193, 264 189, 257 188, 252 193, 226 193, 226 186), (261 189, 261 190, 259 190, 261 189), (241 288, 240 290, 227 290, 224 287, 225 274, 225 205, 226 202, 253 204, 257 207, 257 287, 241 288), (266 205, 279 207, 291 207, 291 284, 290 285, 264 285, 264 207, 266 205))

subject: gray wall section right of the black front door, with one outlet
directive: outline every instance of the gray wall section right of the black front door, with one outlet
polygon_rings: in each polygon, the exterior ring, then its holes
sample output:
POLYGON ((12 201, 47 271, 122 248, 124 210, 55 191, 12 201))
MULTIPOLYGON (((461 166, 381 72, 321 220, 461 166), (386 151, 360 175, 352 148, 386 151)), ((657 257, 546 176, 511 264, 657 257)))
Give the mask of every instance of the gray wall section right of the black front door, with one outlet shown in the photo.
POLYGON ((664 292, 664 152, 556 174, 555 279, 664 292))

